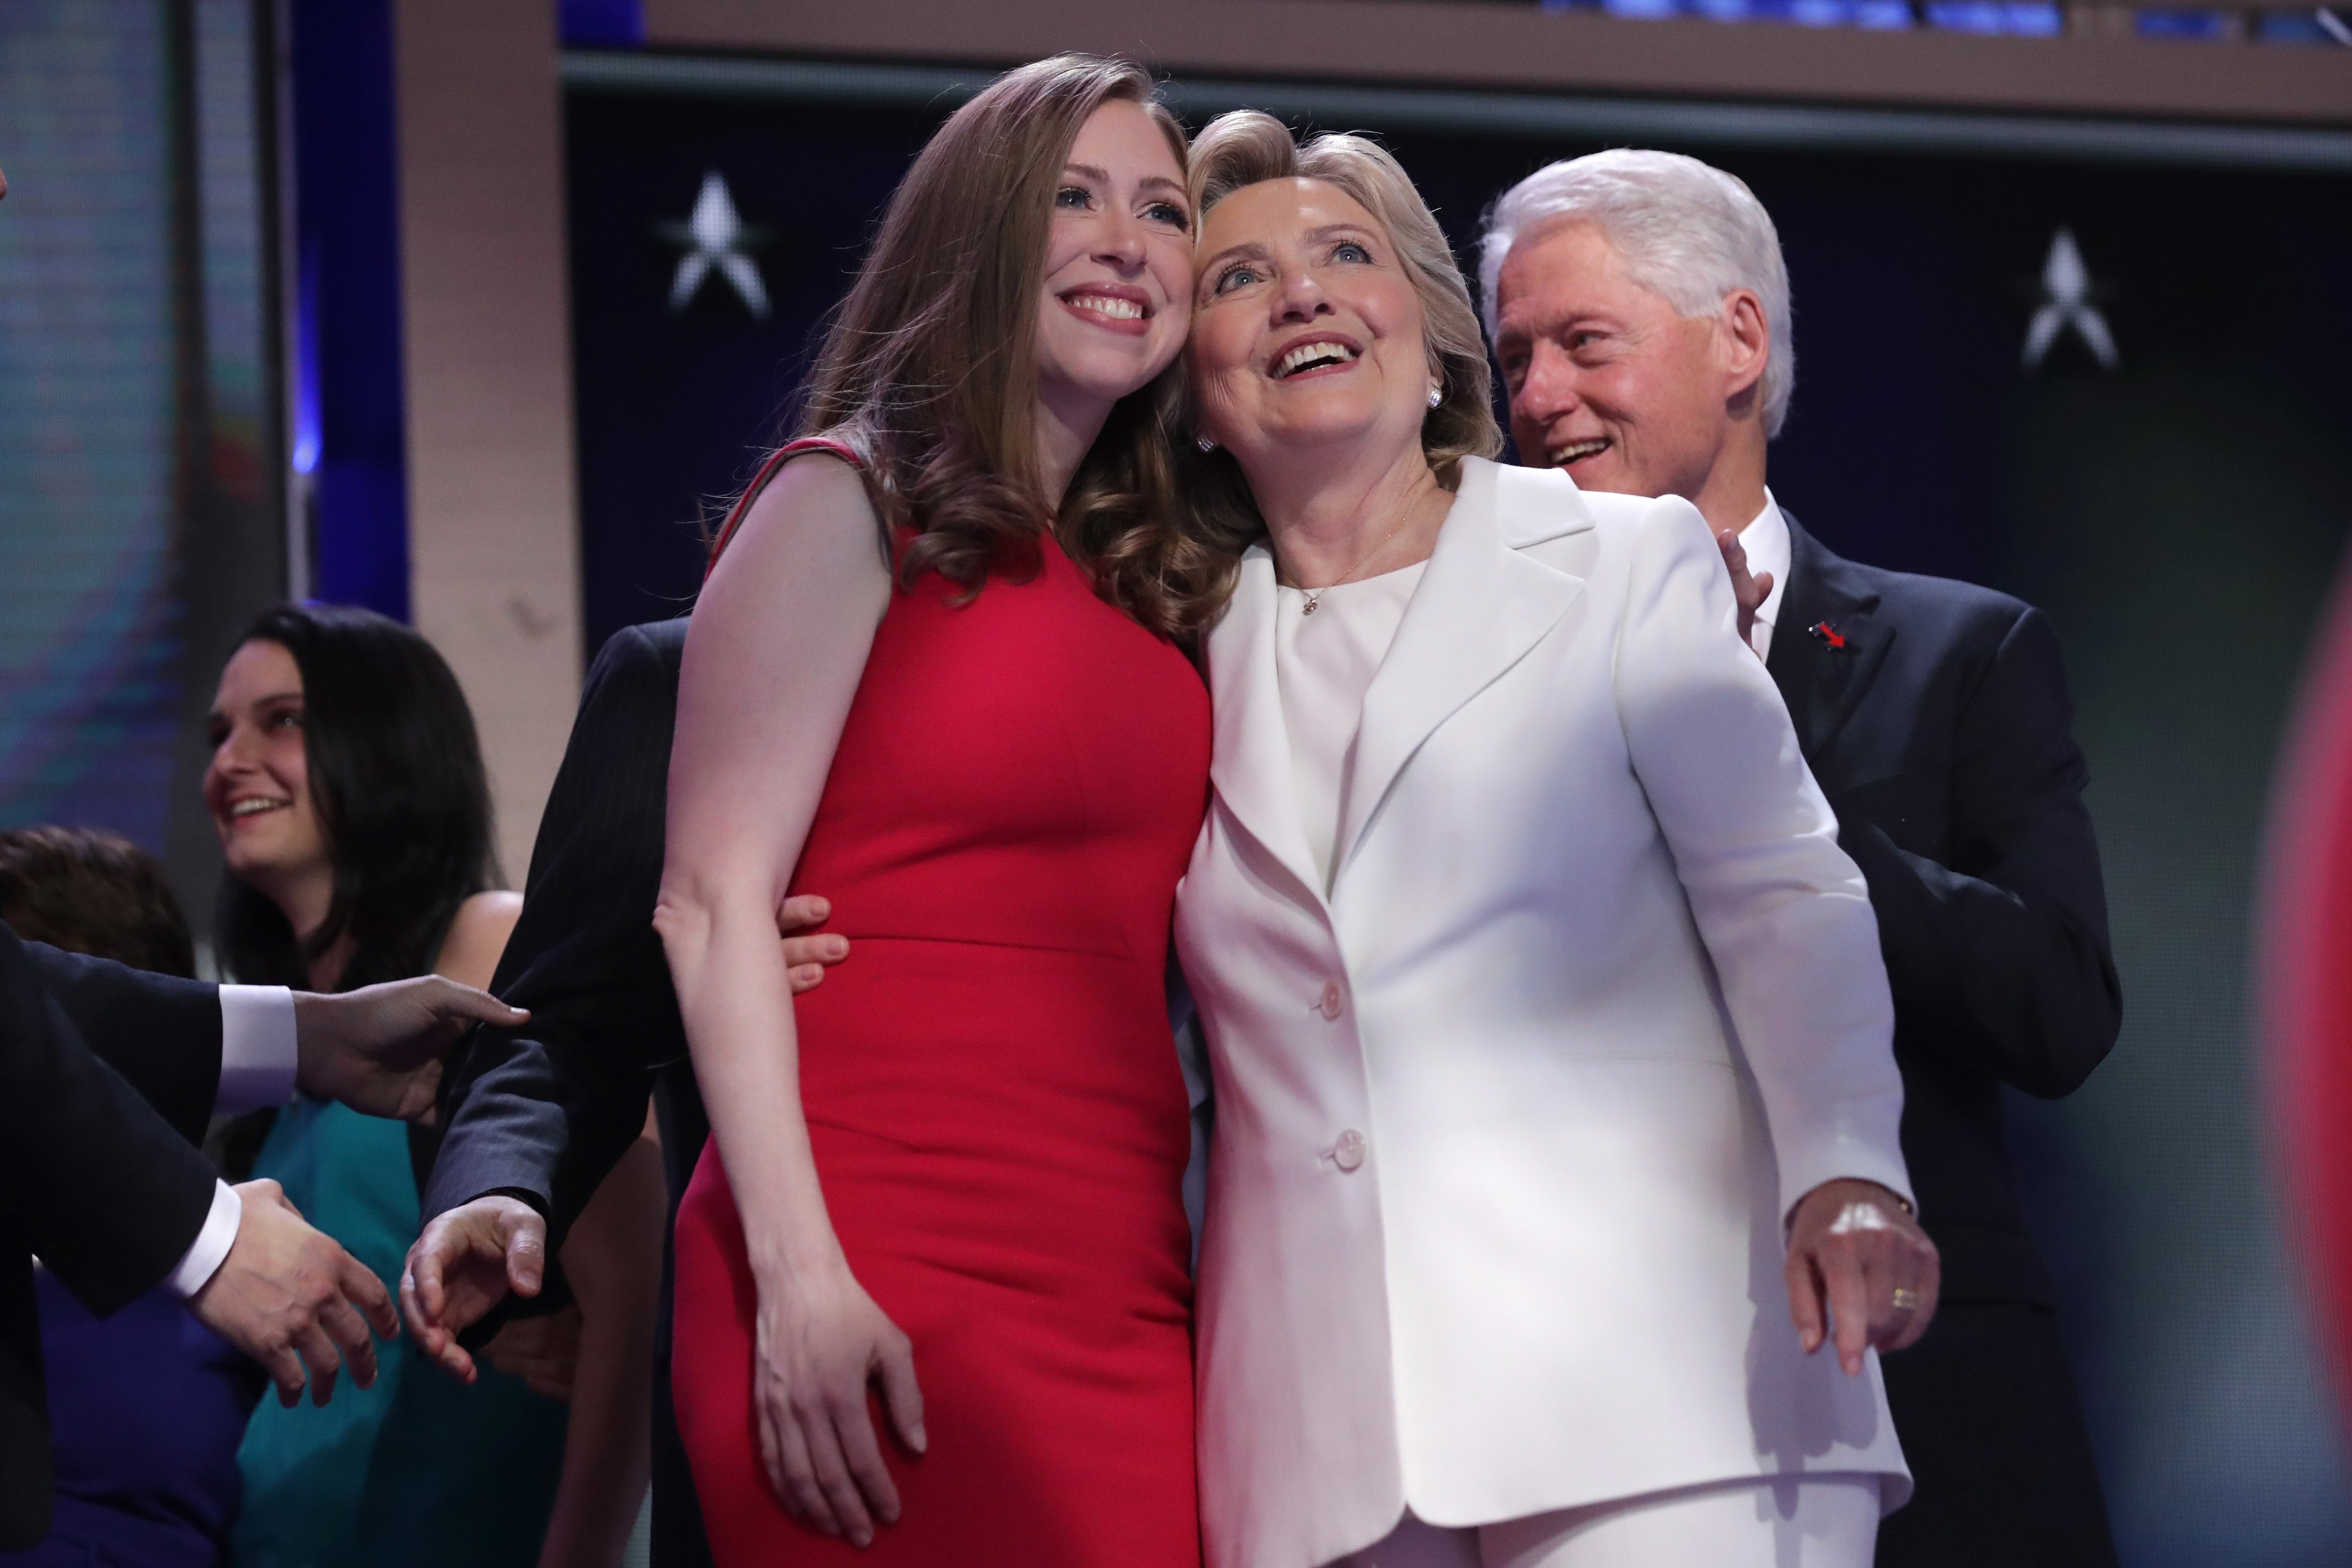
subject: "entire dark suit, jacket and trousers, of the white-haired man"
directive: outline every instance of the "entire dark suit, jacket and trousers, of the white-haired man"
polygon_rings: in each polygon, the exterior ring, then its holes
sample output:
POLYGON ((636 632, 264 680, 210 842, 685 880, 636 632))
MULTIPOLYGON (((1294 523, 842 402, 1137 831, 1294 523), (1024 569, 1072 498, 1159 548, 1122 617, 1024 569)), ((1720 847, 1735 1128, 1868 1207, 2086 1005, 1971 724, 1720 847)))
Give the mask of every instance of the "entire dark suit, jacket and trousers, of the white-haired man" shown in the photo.
POLYGON ((2112 1563, 2002 1131, 2004 1084, 2072 1093, 2122 1027, 2058 635, 2006 595, 1788 531, 1769 670, 1870 882, 1903 1154, 1943 1253, 1936 1324, 1886 1359, 1919 1490, 1879 1563, 2112 1563))

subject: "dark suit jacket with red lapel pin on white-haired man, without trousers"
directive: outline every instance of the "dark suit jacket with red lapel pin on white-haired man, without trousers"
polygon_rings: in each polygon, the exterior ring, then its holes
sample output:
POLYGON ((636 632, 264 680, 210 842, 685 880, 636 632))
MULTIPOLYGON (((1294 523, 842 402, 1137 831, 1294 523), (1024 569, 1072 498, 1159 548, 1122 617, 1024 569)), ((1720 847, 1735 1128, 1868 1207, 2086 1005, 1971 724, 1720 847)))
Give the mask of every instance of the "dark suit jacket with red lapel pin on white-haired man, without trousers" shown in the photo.
POLYGON ((2072 1091, 2122 1023, 2058 635, 2011 595, 1846 562, 1795 522, 1790 545, 1769 668, 1870 882, 1945 1300, 2046 1302, 2004 1084, 2072 1091))

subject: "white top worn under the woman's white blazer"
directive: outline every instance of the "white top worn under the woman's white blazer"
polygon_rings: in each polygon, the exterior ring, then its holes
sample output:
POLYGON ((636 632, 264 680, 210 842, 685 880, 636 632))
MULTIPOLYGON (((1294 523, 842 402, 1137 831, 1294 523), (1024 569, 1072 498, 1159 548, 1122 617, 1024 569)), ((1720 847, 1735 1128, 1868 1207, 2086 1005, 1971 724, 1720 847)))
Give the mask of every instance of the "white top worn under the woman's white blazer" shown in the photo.
POLYGON ((1291 778, 1298 788, 1298 816, 1308 827, 1308 849, 1324 891, 1331 889, 1331 860, 1338 844, 1341 788, 1348 778, 1348 752, 1364 717, 1364 691, 1397 639, 1404 607, 1421 585, 1428 562, 1383 571, 1362 583, 1341 583, 1315 595, 1315 614, 1305 614, 1303 588, 1277 588, 1275 609, 1275 679, 1282 686, 1282 719, 1291 731, 1291 778))

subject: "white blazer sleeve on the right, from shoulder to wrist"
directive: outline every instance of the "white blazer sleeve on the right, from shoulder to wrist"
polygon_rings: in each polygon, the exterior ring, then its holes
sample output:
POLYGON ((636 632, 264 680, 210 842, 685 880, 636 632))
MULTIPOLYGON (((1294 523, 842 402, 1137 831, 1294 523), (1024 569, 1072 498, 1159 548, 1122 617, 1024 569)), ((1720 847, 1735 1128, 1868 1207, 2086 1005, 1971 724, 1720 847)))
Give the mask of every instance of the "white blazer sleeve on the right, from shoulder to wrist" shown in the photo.
POLYGON ((1733 628, 1722 557, 1686 501, 1656 501, 1632 541, 1616 691, 1764 1100, 1783 1213, 1835 1178, 1910 1199, 1870 893, 1771 675, 1733 628))

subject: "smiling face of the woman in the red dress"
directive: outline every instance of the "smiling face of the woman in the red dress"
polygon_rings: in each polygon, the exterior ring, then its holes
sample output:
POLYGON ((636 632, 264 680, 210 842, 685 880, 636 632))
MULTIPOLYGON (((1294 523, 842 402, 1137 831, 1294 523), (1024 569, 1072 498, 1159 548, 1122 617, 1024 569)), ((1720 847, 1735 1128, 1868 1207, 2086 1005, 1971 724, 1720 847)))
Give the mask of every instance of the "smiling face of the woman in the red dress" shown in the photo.
POLYGON ((1192 207, 1167 134, 1112 99, 1077 132, 1047 233, 1040 395, 1077 423, 1164 371, 1183 348, 1192 207))

